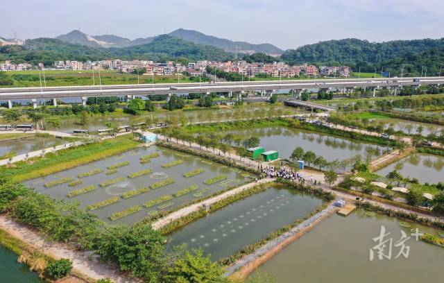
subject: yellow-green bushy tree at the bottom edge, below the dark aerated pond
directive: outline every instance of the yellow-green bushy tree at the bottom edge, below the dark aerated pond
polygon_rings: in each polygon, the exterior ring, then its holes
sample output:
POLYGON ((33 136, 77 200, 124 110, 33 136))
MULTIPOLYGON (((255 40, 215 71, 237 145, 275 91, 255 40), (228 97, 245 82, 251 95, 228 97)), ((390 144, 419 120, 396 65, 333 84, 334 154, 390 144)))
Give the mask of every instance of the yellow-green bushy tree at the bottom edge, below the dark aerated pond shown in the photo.
POLYGON ((213 262, 210 256, 203 256, 203 250, 185 251, 174 265, 169 268, 167 277, 171 282, 179 283, 228 283, 225 271, 213 262))

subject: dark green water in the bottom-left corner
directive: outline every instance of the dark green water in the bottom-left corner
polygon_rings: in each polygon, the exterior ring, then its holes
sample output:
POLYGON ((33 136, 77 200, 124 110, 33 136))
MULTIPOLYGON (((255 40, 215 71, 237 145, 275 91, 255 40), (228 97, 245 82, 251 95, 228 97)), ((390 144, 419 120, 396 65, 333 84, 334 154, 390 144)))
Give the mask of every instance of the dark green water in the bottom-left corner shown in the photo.
POLYGON ((29 271, 26 264, 19 264, 17 262, 17 255, 0 245, 0 275, 1 282, 7 283, 37 283, 44 282, 37 273, 29 271))

